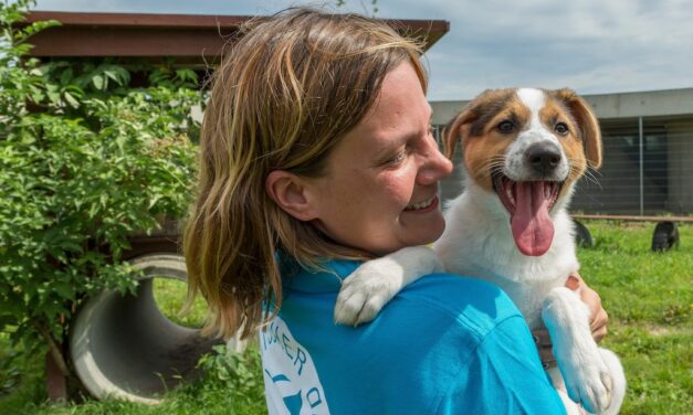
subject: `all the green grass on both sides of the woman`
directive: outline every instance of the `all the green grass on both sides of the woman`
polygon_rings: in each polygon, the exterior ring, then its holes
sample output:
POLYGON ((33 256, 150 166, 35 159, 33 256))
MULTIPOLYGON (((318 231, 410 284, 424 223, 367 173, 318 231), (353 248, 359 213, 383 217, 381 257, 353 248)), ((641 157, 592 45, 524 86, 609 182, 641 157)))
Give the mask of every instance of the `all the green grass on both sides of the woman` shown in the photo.
MULTIPOLYGON (((586 222, 596 240, 581 248, 580 274, 609 312, 602 345, 626 368, 628 392, 622 414, 684 414, 693 407, 693 226, 680 227, 681 247, 649 251, 652 224, 586 222)), ((203 321, 203 305, 178 316, 185 286, 158 279, 157 302, 169 318, 190 327, 203 321)), ((43 353, 24 355, 0 334, 0 414, 263 414, 260 359, 255 347, 243 355, 209 355, 201 380, 145 406, 118 401, 54 406, 45 403, 43 353)))

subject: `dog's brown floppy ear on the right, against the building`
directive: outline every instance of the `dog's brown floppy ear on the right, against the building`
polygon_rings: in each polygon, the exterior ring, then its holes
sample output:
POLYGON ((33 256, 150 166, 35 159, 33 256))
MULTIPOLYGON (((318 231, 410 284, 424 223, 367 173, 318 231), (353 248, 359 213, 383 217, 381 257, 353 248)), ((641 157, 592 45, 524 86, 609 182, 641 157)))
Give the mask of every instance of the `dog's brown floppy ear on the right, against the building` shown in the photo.
POLYGON ((598 169, 601 167, 601 131, 595 113, 573 89, 558 89, 556 96, 568 107, 580 127, 587 163, 598 169))

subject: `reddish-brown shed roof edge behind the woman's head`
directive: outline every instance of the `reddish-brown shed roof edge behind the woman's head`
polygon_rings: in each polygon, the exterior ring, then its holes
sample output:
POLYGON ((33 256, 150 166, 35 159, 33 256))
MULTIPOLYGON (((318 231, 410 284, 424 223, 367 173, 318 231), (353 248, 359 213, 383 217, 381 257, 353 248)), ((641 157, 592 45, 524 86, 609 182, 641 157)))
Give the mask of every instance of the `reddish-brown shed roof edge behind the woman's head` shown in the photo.
MULTIPOLYGON (((177 63, 218 62, 229 36, 248 15, 82 13, 33 11, 29 23, 57 20, 31 38, 38 57, 176 57, 177 63)), ((424 40, 426 50, 450 30, 444 20, 385 20, 402 34, 424 40)))

